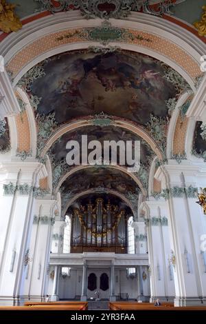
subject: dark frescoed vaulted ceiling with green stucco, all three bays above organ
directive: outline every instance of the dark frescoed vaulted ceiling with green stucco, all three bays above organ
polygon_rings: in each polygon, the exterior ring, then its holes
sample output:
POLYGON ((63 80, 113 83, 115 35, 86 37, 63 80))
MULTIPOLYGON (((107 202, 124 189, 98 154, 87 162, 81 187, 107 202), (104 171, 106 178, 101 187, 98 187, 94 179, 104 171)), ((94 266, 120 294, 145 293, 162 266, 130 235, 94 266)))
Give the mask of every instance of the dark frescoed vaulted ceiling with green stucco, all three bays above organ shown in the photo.
MULTIPOLYGON (((28 71, 18 86, 27 92, 34 108, 40 152, 51 130, 73 121, 92 121, 57 136, 47 151, 52 161, 54 192, 56 188, 60 190, 65 204, 71 196, 92 189, 105 190, 105 194, 113 190, 126 196, 128 193, 137 195, 140 185, 145 194, 155 154, 142 137, 120 125, 117 127, 112 121, 126 121, 142 128, 159 143, 159 150, 164 154, 172 103, 183 91, 181 87, 188 85, 165 63, 148 55, 115 48, 106 53, 88 49, 49 57, 28 71), (124 170, 105 165, 83 170, 73 166, 72 171, 66 163, 66 145, 71 140, 81 143, 82 135, 88 136, 88 143, 100 141, 102 148, 104 141, 140 141, 139 172, 130 176, 124 170)), ((80 163, 82 157, 80 150, 80 163)))

